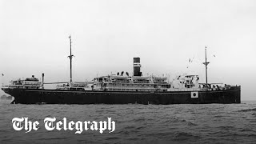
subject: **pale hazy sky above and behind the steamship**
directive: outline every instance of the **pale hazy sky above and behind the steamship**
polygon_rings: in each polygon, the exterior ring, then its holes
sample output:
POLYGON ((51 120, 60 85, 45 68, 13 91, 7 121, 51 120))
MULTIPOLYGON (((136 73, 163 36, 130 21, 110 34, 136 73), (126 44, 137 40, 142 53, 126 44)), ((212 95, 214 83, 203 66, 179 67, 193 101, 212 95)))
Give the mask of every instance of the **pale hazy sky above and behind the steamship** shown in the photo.
MULTIPOLYGON (((133 72, 242 86, 256 100, 254 0, 0 0, 1 83, 32 74, 68 82, 69 36, 74 81, 133 72), (193 62, 189 62, 189 59, 193 62)), ((2 92, 1 92, 2 93, 2 92)))

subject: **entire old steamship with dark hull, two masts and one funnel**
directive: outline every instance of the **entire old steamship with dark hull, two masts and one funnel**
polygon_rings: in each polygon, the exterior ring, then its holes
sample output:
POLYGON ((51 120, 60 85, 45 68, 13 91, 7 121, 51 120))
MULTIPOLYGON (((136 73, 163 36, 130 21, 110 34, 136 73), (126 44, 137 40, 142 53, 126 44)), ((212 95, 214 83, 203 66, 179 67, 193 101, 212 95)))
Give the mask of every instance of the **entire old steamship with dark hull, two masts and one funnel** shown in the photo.
MULTIPOLYGON (((205 49, 206 50, 206 49, 205 49)), ((206 51, 205 51, 206 52, 206 51)), ((11 81, 2 86, 6 94, 14 97, 12 103, 21 104, 207 104, 241 103, 241 86, 222 83, 199 83, 198 75, 178 76, 172 82, 166 77, 142 76, 140 58, 134 58, 134 73, 108 74, 90 82, 72 81, 70 37, 70 82, 58 83, 55 89, 45 89, 38 78, 11 81)))

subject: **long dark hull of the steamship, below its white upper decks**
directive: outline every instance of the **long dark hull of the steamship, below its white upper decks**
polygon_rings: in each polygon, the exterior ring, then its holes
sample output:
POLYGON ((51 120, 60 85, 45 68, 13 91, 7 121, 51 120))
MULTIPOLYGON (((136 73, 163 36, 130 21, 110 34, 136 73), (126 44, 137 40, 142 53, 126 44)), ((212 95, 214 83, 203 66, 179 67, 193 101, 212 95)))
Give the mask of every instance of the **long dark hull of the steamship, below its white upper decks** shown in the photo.
POLYGON ((190 104, 190 103, 241 103, 240 86, 230 90, 198 91, 198 98, 191 98, 191 91, 128 92, 128 91, 75 91, 3 89, 22 104, 190 104))

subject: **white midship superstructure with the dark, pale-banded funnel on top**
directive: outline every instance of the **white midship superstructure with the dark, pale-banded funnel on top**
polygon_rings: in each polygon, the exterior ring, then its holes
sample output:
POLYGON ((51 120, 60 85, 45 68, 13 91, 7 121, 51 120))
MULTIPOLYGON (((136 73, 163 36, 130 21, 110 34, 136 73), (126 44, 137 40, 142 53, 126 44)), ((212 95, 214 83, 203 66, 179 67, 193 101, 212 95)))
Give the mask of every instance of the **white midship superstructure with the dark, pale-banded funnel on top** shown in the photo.
POLYGON ((92 90, 103 91, 167 91, 170 83, 167 78, 143 77, 140 71, 140 58, 134 58, 134 75, 128 72, 110 74, 94 78, 92 90))

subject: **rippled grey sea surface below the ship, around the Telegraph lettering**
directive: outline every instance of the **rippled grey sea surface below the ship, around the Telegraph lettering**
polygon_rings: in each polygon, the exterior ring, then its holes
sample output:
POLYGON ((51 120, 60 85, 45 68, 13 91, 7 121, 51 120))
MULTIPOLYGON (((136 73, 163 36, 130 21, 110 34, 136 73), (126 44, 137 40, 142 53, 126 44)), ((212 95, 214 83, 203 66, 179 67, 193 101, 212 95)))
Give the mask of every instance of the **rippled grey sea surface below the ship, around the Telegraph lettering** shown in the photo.
POLYGON ((11 105, 0 100, 0 143, 256 143, 256 102, 194 105, 11 105), (39 129, 14 130, 13 118, 39 129), (46 130, 45 118, 115 122, 115 130, 46 130))

